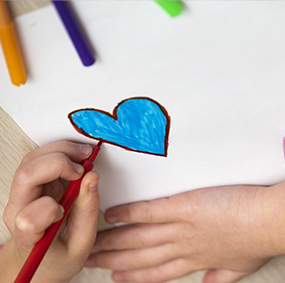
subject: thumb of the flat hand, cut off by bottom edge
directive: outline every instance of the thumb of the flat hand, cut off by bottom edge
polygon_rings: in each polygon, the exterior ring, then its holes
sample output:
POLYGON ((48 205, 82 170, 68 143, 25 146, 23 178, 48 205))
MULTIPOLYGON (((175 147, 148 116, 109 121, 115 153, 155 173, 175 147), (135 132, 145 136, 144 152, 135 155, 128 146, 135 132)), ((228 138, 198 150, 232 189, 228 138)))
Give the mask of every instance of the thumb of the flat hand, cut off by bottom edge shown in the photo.
POLYGON ((245 272, 212 269, 206 273, 203 283, 234 283, 246 275, 247 273, 245 272))

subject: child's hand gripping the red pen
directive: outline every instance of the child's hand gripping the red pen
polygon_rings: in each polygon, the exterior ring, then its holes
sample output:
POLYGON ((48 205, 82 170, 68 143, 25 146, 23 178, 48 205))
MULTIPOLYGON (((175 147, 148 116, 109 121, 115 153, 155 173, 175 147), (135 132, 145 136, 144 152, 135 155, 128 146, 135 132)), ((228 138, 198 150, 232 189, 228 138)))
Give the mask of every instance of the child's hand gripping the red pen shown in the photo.
MULTIPOLYGON (((59 178, 79 179, 83 173, 79 163, 91 152, 89 145, 58 142, 39 148, 23 159, 15 174, 4 212, 12 239, 4 246, 3 253, 6 252, 7 257, 10 250, 8 258, 13 257, 10 266, 13 272, 1 270, 1 277, 7 275, 5 282, 15 279, 45 229, 62 218, 63 208, 58 201, 64 187, 59 178)), ((60 235, 50 246, 32 282, 68 282, 83 268, 97 233, 98 181, 96 172, 89 172, 83 178, 79 196, 65 225, 61 227, 60 235)))

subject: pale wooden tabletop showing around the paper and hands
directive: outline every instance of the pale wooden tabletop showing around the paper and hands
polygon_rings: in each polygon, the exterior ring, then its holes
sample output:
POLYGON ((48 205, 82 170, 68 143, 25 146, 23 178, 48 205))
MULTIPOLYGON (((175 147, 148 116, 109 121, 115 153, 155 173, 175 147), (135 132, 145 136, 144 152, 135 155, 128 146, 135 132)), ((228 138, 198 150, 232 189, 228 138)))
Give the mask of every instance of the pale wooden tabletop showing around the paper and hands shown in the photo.
MULTIPOLYGON (((35 9, 50 5, 49 1, 9 1, 9 7, 14 17, 35 9)), ((3 67, 3 66, 1 66, 3 67)), ((0 214, 8 201, 13 175, 25 154, 38 146, 21 130, 11 117, 0 108, 0 214)), ((99 215, 98 229, 109 227, 99 215)), ((2 217, 0 219, 0 244, 10 237, 2 217)), ((285 236, 284 236, 285 237, 285 236)), ((196 272, 172 283, 200 283, 204 272, 196 272)), ((0 276, 1 278, 1 276, 0 276)), ((1 280, 0 280, 1 281, 1 280)), ((72 283, 111 283, 110 271, 102 269, 83 269, 72 283)), ((257 273, 244 278, 242 283, 281 283, 285 282, 285 257, 278 257, 269 262, 257 273)), ((6 283, 6 282, 5 282, 6 283)), ((8 283, 8 282, 7 282, 8 283)), ((147 283, 147 282, 146 282, 147 283)))

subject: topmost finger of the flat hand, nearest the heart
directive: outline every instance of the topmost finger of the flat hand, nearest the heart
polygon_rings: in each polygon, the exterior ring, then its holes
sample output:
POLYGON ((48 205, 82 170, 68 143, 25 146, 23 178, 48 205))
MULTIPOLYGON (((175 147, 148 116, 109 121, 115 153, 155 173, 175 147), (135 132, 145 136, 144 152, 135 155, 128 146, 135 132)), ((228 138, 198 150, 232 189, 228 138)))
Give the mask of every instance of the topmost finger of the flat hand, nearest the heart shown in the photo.
POLYGON ((106 211, 105 219, 108 223, 174 222, 186 214, 185 207, 178 200, 178 197, 171 197, 117 206, 106 211))

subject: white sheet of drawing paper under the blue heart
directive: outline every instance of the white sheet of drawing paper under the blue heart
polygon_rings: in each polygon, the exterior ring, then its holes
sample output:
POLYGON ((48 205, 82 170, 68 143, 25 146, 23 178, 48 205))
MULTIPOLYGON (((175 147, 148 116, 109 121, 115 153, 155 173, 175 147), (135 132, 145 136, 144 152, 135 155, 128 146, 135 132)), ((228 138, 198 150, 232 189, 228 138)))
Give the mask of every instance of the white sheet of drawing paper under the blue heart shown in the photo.
POLYGON ((83 67, 52 6, 16 21, 28 82, 12 86, 0 54, 1 106, 40 146, 94 144, 68 114, 112 112, 131 97, 171 117, 168 156, 103 144, 103 210, 183 191, 284 179, 285 2, 187 1, 170 18, 152 1, 73 4, 97 62, 83 67))

